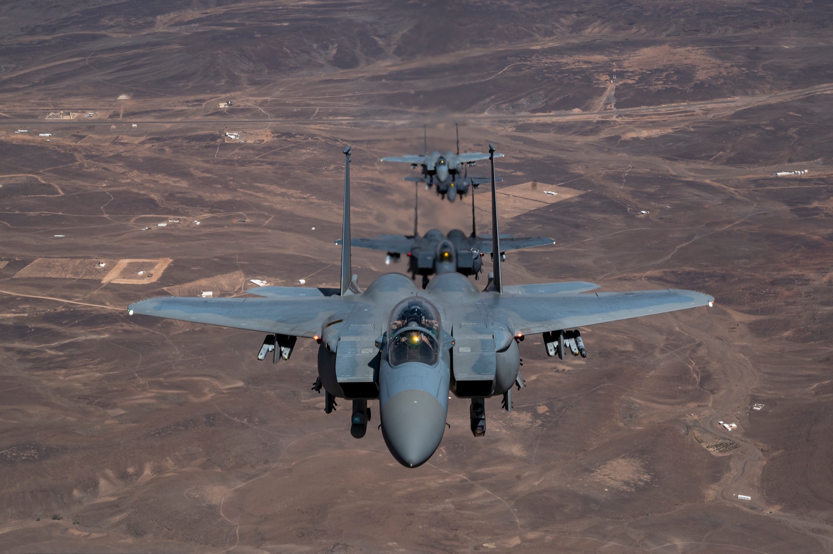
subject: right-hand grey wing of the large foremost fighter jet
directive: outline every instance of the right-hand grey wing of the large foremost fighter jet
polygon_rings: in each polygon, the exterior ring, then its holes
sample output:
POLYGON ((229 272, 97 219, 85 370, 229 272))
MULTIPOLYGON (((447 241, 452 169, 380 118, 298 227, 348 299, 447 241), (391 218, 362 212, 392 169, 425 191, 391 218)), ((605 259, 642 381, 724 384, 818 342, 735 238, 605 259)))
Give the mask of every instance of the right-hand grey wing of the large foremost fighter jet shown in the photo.
POLYGON ((714 297, 702 292, 669 288, 583 294, 503 294, 481 302, 504 312, 514 332, 532 335, 707 306, 713 301, 714 297))

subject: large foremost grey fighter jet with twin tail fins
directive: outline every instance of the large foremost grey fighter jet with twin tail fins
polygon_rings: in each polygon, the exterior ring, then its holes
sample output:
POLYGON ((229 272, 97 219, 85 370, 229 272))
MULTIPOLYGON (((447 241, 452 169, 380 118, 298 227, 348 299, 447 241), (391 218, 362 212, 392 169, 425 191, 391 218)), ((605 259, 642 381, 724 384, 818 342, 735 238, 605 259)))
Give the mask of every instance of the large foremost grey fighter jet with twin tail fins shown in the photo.
MULTIPOLYGON (((494 148, 489 147, 494 178, 494 148)), ((352 402, 351 433, 363 437, 379 401, 382 437, 405 467, 425 463, 446 429, 449 394, 471 402, 471 431, 486 432, 484 399, 502 395, 512 407, 521 388, 519 344, 542 334, 546 352, 586 356, 576 327, 711 306, 701 292, 661 289, 592 292, 588 282, 505 285, 501 257, 492 260, 485 290, 458 272, 442 272, 423 291, 407 276, 388 273, 364 291, 352 276, 350 249, 350 147, 345 154, 341 287, 261 287, 259 298, 151 298, 128 314, 146 314, 268 333, 258 358, 288 360, 297 337, 318 344, 318 378, 324 411, 337 398, 352 402)), ((496 194, 491 192, 492 252, 501 252, 496 194)))

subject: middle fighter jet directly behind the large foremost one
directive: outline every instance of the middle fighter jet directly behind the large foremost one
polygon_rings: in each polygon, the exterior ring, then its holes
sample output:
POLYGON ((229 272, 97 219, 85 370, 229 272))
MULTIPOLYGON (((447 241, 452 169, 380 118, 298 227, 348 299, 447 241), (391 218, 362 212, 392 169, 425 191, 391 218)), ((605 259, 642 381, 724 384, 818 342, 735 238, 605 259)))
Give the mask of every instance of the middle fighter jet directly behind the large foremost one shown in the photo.
MULTIPOLYGON (((381 250, 387 252, 385 263, 399 262, 404 254, 408 261, 408 271, 411 273, 411 280, 416 280, 417 275, 422 276, 422 288, 428 286, 428 276, 442 272, 458 272, 463 275, 473 275, 475 280, 480 278, 482 271, 482 257, 484 254, 492 254, 491 237, 476 236, 476 221, 474 208, 474 193, 471 194, 471 235, 460 229, 453 229, 447 235, 437 229, 426 232, 424 237, 419 236, 419 188, 415 188, 414 196, 414 234, 412 235, 377 235, 376 238, 353 238, 351 245, 369 250, 381 250)), ((341 244, 341 239, 336 244, 341 244)), ((546 244, 555 244, 555 241, 548 237, 516 238, 501 237, 500 252, 501 262, 506 262, 506 252, 519 248, 540 247, 546 244)))

